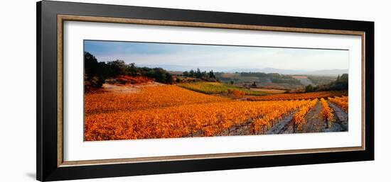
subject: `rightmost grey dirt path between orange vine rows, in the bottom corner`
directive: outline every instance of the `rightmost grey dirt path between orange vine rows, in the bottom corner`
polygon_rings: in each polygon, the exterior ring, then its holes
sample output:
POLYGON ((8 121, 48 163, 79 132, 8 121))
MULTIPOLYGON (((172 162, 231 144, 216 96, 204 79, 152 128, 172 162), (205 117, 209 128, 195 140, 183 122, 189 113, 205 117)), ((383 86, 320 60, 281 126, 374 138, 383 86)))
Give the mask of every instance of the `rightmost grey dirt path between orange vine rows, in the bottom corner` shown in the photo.
POLYGON ((325 132, 347 132, 348 131, 348 114, 345 113, 341 108, 328 101, 334 112, 333 123, 331 127, 325 130, 325 132))

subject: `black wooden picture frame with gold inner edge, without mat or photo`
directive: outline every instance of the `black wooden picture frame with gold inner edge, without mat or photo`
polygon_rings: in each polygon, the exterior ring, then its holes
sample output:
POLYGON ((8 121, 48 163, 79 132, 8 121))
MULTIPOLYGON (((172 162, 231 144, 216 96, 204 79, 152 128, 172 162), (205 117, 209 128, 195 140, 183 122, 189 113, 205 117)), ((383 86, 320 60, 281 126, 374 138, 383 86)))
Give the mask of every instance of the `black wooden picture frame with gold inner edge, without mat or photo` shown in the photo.
POLYGON ((168 174, 374 159, 374 23, 60 1, 37 3, 37 180, 168 174), (359 35, 362 39, 360 147, 291 149, 85 161, 63 160, 65 21, 359 35))

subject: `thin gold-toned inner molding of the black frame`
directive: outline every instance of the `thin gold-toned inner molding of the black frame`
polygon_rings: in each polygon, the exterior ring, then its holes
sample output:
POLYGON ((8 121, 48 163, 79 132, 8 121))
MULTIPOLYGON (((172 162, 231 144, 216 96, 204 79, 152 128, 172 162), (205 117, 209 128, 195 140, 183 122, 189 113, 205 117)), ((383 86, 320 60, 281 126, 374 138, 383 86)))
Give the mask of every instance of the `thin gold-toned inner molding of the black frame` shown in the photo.
POLYGON ((57 16, 57 164, 58 167, 63 166, 82 166, 82 165, 98 165, 98 164, 122 164, 136 163, 149 161, 176 161, 176 160, 191 160, 191 159, 216 159, 228 157, 256 157, 267 155, 280 154, 308 154, 320 152, 348 152, 365 150, 365 32, 350 31, 350 30, 326 30, 313 28, 286 28, 263 25, 237 25, 224 23, 201 23, 187 21, 159 21, 134 18, 109 18, 97 16, 57 16), (361 146, 360 147, 335 147, 335 148, 320 148, 320 149, 291 149, 279 151, 264 151, 264 152, 235 152, 225 154, 195 154, 182 156, 167 156, 167 157, 137 157, 127 159, 100 159, 86 161, 64 161, 63 160, 63 25, 65 21, 87 21, 98 23, 129 23, 139 25, 169 25, 183 27, 198 27, 198 28, 225 28, 237 30, 266 30, 277 32, 294 32, 294 33, 321 33, 334 35, 360 35, 361 36, 361 98, 362 98, 362 120, 361 120, 361 146))

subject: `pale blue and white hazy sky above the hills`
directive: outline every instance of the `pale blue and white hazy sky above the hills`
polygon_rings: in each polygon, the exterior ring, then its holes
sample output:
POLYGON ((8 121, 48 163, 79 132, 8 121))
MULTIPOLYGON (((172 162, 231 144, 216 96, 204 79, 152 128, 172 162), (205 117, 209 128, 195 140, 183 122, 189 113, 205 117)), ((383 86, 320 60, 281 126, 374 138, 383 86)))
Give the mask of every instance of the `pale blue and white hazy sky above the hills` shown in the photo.
POLYGON ((186 45, 85 40, 85 51, 98 61, 242 69, 348 69, 348 50, 186 45))

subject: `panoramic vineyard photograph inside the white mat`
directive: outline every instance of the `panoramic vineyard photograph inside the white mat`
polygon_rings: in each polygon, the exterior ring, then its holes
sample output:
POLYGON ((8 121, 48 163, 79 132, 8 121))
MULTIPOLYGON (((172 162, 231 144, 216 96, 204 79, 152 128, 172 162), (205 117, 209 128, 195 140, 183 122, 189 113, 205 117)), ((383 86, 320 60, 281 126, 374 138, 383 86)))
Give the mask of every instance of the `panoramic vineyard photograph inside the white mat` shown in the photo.
POLYGON ((84 40, 84 140, 348 131, 348 50, 84 40))

